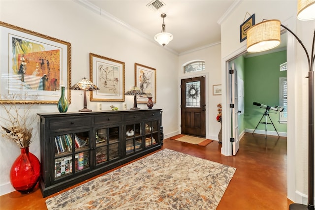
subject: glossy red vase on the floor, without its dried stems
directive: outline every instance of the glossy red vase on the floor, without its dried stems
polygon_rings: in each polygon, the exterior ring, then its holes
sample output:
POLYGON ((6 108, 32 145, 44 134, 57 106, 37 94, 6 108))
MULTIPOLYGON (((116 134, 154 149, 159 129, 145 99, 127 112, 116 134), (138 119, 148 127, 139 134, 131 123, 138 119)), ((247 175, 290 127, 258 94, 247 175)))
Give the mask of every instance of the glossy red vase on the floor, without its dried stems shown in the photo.
POLYGON ((14 161, 10 171, 10 181, 14 189, 21 193, 31 192, 40 176, 40 162, 29 152, 29 147, 21 148, 21 154, 14 161))

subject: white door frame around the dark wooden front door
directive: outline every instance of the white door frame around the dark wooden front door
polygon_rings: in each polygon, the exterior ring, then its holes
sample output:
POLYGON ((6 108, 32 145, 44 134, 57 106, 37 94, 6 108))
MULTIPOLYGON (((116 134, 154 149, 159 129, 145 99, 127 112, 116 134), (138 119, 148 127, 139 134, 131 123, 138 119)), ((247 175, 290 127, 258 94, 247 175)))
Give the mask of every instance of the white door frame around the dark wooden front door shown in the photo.
POLYGON ((205 89, 206 89, 206 139, 209 139, 209 73, 202 72, 200 74, 191 74, 181 76, 178 79, 178 133, 182 133, 181 123, 182 123, 182 113, 181 113, 181 81, 182 79, 189 79, 194 77, 205 77, 205 89))

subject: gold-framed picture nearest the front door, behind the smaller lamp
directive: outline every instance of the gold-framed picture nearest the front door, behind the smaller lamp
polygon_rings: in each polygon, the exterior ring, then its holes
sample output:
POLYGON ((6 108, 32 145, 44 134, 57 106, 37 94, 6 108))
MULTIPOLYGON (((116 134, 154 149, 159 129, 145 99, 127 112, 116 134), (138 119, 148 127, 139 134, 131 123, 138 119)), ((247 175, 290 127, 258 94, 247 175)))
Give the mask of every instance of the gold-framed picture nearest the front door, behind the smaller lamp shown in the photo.
POLYGON ((138 103, 147 103, 148 96, 152 97, 153 103, 157 102, 156 69, 139 63, 134 63, 135 86, 140 88, 146 95, 139 95, 138 103))

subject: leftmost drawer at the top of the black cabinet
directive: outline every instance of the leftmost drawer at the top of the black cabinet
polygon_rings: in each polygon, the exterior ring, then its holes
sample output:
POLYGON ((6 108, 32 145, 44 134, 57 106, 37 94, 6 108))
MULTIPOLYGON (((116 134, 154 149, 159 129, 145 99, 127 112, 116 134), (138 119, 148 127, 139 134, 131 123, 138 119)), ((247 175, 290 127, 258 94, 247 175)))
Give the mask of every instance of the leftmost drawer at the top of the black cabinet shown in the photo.
POLYGON ((89 125, 91 125, 91 117, 63 118, 58 120, 50 120, 51 130, 68 130, 80 126, 89 125))

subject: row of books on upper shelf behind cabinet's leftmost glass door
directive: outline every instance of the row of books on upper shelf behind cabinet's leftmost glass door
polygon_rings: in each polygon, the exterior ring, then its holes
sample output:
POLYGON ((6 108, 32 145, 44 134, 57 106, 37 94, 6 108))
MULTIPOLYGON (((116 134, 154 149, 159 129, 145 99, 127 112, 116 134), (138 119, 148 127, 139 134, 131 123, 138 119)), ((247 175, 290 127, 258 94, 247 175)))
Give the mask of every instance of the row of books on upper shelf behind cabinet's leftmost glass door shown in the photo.
MULTIPOLYGON (((87 140, 80 139, 76 134, 74 134, 74 145, 75 148, 81 148, 87 145, 87 140)), ((73 141, 70 134, 55 136, 55 152, 62 153, 65 151, 72 151, 73 141)))

